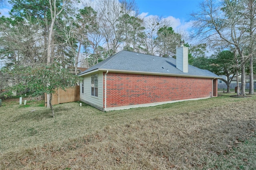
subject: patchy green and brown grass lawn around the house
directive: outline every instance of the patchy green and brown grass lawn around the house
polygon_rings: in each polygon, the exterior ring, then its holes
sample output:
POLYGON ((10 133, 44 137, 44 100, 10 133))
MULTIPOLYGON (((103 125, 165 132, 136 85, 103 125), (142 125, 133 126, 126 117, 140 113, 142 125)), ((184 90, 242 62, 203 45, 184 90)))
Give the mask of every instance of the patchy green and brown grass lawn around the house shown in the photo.
POLYGON ((256 96, 102 112, 3 100, 0 169, 256 169, 256 96))

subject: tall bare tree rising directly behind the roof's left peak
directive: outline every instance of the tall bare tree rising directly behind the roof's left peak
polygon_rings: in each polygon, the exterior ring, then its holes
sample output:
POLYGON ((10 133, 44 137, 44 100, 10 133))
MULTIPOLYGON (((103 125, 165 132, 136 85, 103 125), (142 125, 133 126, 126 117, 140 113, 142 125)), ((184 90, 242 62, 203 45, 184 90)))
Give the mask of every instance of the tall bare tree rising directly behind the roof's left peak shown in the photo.
MULTIPOLYGON (((131 16, 136 11, 134 0, 102 0, 96 9, 100 32, 104 36, 108 55, 120 51, 121 42, 124 41, 126 21, 123 16, 131 16)), ((134 14, 135 16, 136 14, 134 14)))

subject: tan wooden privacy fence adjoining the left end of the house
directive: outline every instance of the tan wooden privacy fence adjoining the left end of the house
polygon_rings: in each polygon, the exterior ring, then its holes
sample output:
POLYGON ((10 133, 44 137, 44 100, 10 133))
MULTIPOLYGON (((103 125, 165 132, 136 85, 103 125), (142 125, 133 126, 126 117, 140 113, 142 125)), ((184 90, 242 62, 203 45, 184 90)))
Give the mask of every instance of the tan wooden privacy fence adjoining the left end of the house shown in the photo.
MULTIPOLYGON (((80 86, 66 88, 65 90, 58 89, 52 94, 52 105, 76 102, 80 100, 80 86)), ((44 106, 47 106, 47 94, 44 94, 44 106)))

